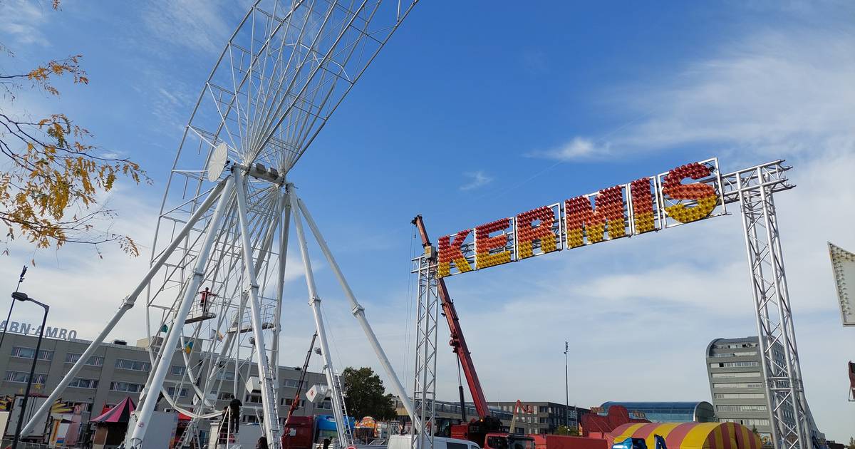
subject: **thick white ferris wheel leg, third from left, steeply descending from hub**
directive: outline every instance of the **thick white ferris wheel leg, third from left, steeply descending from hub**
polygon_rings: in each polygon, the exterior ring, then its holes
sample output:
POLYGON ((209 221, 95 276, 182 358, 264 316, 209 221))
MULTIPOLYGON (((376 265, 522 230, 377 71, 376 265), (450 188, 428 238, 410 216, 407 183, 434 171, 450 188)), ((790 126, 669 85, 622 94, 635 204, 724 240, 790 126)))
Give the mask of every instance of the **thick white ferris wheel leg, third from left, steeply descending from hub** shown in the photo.
POLYGON ((252 334, 256 339, 256 363, 258 366, 258 379, 261 381, 262 388, 262 412, 264 422, 262 426, 266 430, 268 446, 273 449, 280 447, 280 424, 279 417, 276 412, 276 399, 274 394, 273 376, 270 374, 270 366, 267 359, 267 350, 264 344, 264 334, 262 328, 262 313, 261 303, 258 300, 258 281, 256 278, 256 268, 252 260, 252 243, 250 240, 250 226, 247 218, 246 207, 246 188, 244 186, 245 177, 242 168, 233 168, 233 177, 235 190, 238 199, 238 221, 240 224, 240 239, 243 247, 244 266, 246 281, 249 284, 248 293, 250 301, 250 318, 252 323, 252 334))

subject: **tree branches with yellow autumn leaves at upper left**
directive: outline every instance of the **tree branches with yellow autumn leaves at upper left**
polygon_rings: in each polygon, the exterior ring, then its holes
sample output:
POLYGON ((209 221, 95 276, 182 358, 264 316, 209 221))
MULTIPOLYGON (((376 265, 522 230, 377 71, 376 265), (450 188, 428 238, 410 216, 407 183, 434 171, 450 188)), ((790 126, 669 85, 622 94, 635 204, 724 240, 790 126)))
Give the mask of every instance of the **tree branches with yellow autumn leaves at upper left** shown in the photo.
MULTIPOLYGON (((59 0, 53 0, 52 7, 59 9, 59 0)), ((3 45, 0 51, 14 57, 3 45)), ((81 58, 68 56, 21 74, 3 73, 0 68, 0 91, 8 104, 27 88, 59 97, 54 86, 59 78, 89 84, 81 58)), ((97 199, 120 178, 137 184, 149 179, 136 162, 110 157, 92 145, 92 137, 67 115, 29 119, 0 105, 0 153, 8 162, 0 170, 0 221, 7 228, 7 239, 24 237, 38 248, 83 243, 97 249, 115 242, 128 254, 139 255, 130 236, 105 230, 104 223, 112 222, 115 213, 97 199)))

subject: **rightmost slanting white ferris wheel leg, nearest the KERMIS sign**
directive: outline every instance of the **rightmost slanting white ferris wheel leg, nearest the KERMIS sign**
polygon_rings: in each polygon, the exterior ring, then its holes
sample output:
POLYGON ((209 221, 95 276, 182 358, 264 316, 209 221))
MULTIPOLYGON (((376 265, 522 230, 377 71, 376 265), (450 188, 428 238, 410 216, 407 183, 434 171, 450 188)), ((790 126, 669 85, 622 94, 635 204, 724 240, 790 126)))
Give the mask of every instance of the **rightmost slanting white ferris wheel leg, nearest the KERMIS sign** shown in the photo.
POLYGON ((323 252, 324 257, 327 257, 327 263, 329 263, 330 268, 333 269, 336 279, 339 280, 341 289, 344 290, 345 296, 350 301, 352 307, 351 313, 357 318, 359 325, 362 326, 365 336, 369 339, 371 347, 374 348, 374 353, 377 354, 380 364, 383 365, 383 369, 386 371, 386 376, 388 376, 392 381, 392 389, 395 390, 395 394, 398 395, 398 399, 401 400, 401 403, 404 405, 404 409, 406 409, 407 414, 410 415, 410 420, 415 425, 418 422, 418 419, 416 417, 413 404, 410 401, 410 397, 407 396, 407 391, 404 389, 404 385, 401 383, 401 380, 398 379, 398 375, 395 374, 395 370, 392 369, 392 363, 389 362, 389 358, 386 357, 386 352, 384 352, 383 347, 380 346, 380 341, 377 340, 377 335, 374 334, 374 329, 371 328, 368 319, 365 318, 365 309, 359 304, 359 302, 357 302, 357 298, 353 294, 351 286, 348 285, 347 280, 345 280, 345 275, 341 273, 339 264, 335 262, 335 258, 333 257, 333 252, 329 251, 327 241, 324 240, 323 235, 321 235, 321 231, 315 224, 315 220, 312 219, 309 209, 306 208, 306 204, 304 204, 302 199, 297 198, 297 205, 299 210, 303 212, 303 216, 306 219, 306 223, 309 224, 312 234, 315 235, 315 240, 317 240, 318 245, 321 246, 321 251, 323 252))

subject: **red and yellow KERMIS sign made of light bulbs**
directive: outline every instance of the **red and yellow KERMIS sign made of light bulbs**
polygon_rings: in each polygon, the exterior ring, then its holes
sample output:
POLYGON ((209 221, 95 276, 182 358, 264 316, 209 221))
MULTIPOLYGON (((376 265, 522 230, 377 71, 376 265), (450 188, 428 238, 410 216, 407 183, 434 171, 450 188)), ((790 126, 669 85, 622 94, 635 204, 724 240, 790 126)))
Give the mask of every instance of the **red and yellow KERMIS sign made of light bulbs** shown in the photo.
POLYGON ((437 275, 459 275, 725 213, 714 157, 442 236, 437 275))

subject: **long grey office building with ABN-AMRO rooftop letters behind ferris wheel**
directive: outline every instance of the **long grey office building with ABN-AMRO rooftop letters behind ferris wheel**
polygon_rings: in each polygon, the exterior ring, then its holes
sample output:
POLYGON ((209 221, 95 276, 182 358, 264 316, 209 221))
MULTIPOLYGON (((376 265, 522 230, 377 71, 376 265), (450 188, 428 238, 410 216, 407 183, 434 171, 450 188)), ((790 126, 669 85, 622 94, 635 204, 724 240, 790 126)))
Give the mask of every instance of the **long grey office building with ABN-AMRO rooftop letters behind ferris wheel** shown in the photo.
MULTIPOLYGON (((12 330, 6 334, 3 347, 0 347, 0 355, 3 355, 0 357, 0 372, 3 373, 0 396, 24 393, 37 339, 38 337, 29 334, 15 334, 12 330)), ((80 359, 89 343, 85 340, 44 338, 36 357, 32 394, 46 395, 53 391, 72 364, 80 359)), ((114 343, 103 343, 89 357, 74 381, 69 383, 62 393, 62 400, 69 405, 80 405, 84 427, 90 417, 97 417, 126 397, 137 403, 151 370, 149 352, 145 347, 140 347, 146 344, 147 340, 139 340, 138 346, 129 346, 118 340, 114 343)), ((198 363, 204 356, 205 354, 192 352, 191 362, 198 363)), ((279 415, 283 421, 297 392, 301 370, 294 367, 279 368, 279 415)), ((177 397, 179 405, 192 410, 195 394, 192 385, 186 383, 185 371, 183 353, 175 352, 164 386, 168 394, 177 397)), ((224 408, 228 403, 228 395, 236 391, 236 397, 244 403, 241 421, 257 422, 257 416, 261 415, 261 393, 247 393, 245 390, 247 378, 256 372, 254 363, 240 363, 237 372, 233 363, 227 363, 216 379, 217 386, 209 388, 209 393, 217 394, 217 407, 224 408), (238 379, 236 388, 235 379, 238 379)), ((306 376, 304 390, 314 384, 326 383, 324 375, 310 372, 306 376)), ((318 405, 313 405, 305 399, 300 401, 298 415, 332 414, 329 401, 318 405)), ((168 407, 166 400, 158 403, 158 410, 168 410, 168 407)))

